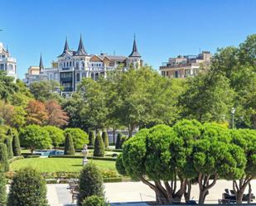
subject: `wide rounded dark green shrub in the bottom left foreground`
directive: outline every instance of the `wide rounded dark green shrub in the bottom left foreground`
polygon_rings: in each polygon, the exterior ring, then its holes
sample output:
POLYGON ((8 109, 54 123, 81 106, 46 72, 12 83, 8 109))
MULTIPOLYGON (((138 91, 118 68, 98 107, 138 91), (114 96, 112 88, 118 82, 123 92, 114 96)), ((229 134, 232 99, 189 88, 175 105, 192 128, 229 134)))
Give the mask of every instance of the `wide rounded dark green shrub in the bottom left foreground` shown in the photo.
POLYGON ((34 169, 24 168, 13 176, 7 206, 48 206, 46 181, 34 169))

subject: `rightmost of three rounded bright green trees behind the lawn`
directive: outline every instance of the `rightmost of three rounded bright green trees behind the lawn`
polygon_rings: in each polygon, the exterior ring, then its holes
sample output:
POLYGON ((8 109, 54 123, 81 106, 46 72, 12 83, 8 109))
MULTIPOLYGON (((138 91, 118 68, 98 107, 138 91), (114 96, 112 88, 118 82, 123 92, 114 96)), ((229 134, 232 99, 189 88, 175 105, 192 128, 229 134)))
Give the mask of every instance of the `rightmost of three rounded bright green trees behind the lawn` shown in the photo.
POLYGON ((67 133, 70 133, 70 136, 74 142, 75 149, 81 149, 85 144, 89 143, 88 134, 80 128, 66 128, 64 131, 65 137, 67 133))

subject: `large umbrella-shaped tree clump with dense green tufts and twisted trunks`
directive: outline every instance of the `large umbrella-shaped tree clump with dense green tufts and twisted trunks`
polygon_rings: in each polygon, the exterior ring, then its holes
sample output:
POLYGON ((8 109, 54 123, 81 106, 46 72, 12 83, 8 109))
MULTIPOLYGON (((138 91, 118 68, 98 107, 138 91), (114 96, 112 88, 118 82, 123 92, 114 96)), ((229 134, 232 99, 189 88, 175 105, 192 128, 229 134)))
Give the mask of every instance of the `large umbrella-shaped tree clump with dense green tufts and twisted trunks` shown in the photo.
MULTIPOLYGON (((171 204, 174 199, 181 201, 183 194, 191 193, 186 186, 196 180, 199 203, 203 204, 218 179, 253 176, 246 172, 249 157, 234 142, 232 132, 220 124, 200 124, 196 120, 183 120, 173 127, 158 125, 142 129, 123 144, 123 155, 118 157, 116 167, 120 174, 142 180, 153 189, 160 204, 171 204), (174 186, 177 181, 179 188, 174 186)), ((256 132, 251 133, 250 138, 255 137, 256 132)), ((250 148, 255 156, 254 146, 250 148)), ((250 171, 255 164, 251 161, 250 171)))

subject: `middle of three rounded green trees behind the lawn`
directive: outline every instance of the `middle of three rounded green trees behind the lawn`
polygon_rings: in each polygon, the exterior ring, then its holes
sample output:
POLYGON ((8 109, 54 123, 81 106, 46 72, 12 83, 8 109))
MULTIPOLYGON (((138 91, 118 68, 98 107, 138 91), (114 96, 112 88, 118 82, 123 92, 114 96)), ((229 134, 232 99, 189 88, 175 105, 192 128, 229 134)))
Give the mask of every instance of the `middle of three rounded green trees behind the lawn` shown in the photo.
POLYGON ((58 127, 55 126, 46 126, 43 127, 47 132, 49 132, 49 135, 51 137, 52 146, 55 148, 57 146, 60 146, 60 144, 63 144, 65 141, 65 137, 63 134, 63 130, 61 130, 58 127))

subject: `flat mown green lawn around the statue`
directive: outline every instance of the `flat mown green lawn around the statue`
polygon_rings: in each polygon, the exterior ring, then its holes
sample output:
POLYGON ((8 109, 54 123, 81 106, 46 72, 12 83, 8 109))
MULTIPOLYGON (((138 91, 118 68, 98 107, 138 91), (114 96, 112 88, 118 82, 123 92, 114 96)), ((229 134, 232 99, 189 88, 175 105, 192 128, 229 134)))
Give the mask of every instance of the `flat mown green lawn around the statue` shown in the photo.
MULTIPOLYGON (((115 162, 108 160, 89 160, 94 162, 101 169, 116 170, 115 162)), ((40 172, 78 172, 82 169, 82 159, 75 158, 30 158, 16 160, 10 165, 12 171, 22 167, 32 167, 40 172)))

